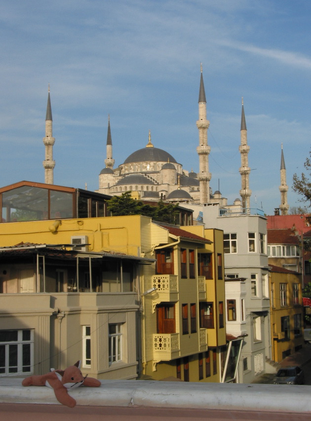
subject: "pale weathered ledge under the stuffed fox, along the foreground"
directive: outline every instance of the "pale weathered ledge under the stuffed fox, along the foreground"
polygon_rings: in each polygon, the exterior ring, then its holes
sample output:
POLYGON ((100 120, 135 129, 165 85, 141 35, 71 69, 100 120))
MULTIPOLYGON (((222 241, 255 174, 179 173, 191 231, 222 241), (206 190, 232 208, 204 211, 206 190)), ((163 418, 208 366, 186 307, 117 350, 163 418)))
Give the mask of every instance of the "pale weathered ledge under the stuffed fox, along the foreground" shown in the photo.
MULTIPOLYGON (((22 379, 0 379, 0 403, 58 404, 45 386, 21 385, 22 379)), ((71 390, 77 405, 192 408, 226 411, 306 413, 311 386, 103 380, 101 387, 71 390)))

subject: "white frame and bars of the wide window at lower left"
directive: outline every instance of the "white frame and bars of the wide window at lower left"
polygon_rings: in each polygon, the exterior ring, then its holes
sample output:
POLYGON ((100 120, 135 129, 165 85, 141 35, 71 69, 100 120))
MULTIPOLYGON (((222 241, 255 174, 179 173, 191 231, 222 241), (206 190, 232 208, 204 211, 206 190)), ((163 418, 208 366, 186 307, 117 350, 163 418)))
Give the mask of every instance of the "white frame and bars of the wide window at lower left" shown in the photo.
POLYGON ((17 374, 32 374, 34 367, 34 329, 7 329, 1 330, 1 332, 17 331, 17 341, 3 341, 0 342, 0 346, 4 348, 4 366, 0 367, 0 377, 7 375, 17 374), (23 340, 23 332, 30 332, 30 339, 23 340), (30 364, 23 365, 23 345, 27 345, 30 348, 30 364), (10 350, 15 354, 17 348, 17 365, 9 365, 10 350), (24 370, 23 367, 29 367, 29 370, 24 370))

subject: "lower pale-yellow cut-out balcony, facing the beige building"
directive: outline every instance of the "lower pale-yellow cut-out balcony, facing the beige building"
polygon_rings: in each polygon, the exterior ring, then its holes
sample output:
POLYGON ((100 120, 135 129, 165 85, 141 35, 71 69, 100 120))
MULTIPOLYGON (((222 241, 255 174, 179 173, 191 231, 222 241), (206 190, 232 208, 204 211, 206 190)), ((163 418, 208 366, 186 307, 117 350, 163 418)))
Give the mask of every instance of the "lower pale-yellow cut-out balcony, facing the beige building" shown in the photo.
POLYGON ((170 361, 180 356, 179 333, 153 335, 154 361, 170 361))

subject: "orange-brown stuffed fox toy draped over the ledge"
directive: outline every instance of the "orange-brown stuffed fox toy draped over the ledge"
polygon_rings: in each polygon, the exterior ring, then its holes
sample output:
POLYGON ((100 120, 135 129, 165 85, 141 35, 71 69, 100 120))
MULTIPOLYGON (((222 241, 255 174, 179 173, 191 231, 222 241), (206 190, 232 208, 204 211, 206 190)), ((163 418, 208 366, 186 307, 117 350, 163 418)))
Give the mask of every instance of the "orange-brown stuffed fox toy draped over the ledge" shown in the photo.
POLYGON ((68 394, 68 389, 83 384, 89 387, 99 387, 100 381, 91 377, 83 377, 80 372, 81 361, 77 361, 75 365, 66 368, 65 370, 54 370, 51 368, 51 373, 43 374, 42 376, 30 376, 23 380, 23 386, 48 386, 54 389, 54 393, 58 402, 63 405, 73 408, 76 406, 76 401, 68 394))

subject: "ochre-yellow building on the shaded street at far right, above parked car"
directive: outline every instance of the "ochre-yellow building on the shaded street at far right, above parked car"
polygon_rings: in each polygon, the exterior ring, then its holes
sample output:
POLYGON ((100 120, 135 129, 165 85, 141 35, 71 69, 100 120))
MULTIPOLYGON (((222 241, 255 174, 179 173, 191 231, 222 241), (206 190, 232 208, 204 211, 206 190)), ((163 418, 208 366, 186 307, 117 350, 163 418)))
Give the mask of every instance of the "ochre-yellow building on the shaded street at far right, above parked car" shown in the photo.
POLYGON ((269 266, 272 359, 279 362, 304 344, 301 274, 269 266))

